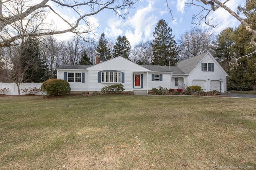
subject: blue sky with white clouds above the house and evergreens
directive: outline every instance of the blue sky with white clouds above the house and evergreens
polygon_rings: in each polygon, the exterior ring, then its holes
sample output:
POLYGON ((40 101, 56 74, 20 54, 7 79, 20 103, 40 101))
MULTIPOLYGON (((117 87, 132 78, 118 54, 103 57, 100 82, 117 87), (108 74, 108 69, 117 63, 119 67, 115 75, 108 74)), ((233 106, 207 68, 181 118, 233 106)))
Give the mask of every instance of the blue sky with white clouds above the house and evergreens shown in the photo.
MULTIPOLYGON (((89 17, 89 21, 98 28, 93 30, 94 34, 91 33, 88 36, 98 39, 101 33, 104 32, 106 38, 116 40, 118 35, 125 35, 133 47, 142 40, 153 39, 155 26, 159 20, 163 19, 172 28, 175 39, 178 39, 182 33, 194 27, 194 25, 191 25, 192 16, 201 10, 195 6, 187 9, 184 6, 186 1, 168 0, 174 20, 167 9, 166 0, 139 0, 133 9, 128 9, 129 14, 126 19, 120 18, 110 10, 104 10, 95 16, 89 17)), ((230 0, 226 5, 236 11, 240 4, 244 5, 244 1, 230 0)), ((72 20, 71 12, 66 15, 72 20)), ((212 12, 208 18, 213 18, 214 23, 218 23, 218 26, 213 29, 216 34, 228 26, 235 27, 240 24, 224 9, 212 12)), ((62 38, 64 37, 68 37, 68 34, 62 36, 62 38)))

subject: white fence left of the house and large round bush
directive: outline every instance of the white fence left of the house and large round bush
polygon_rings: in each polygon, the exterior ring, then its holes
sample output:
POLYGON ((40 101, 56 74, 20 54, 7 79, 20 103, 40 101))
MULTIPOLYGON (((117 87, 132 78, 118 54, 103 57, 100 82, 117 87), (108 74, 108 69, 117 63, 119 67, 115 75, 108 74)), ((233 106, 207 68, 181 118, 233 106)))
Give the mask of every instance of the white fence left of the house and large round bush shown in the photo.
MULTIPOLYGON (((26 93, 22 92, 22 89, 24 90, 25 88, 41 88, 42 83, 22 83, 20 84, 20 94, 24 95, 26 93)), ((18 94, 18 87, 15 83, 1 83, 0 82, 0 89, 8 88, 8 92, 6 92, 6 95, 19 95, 18 94)), ((41 92, 37 92, 37 95, 42 95, 41 92)))

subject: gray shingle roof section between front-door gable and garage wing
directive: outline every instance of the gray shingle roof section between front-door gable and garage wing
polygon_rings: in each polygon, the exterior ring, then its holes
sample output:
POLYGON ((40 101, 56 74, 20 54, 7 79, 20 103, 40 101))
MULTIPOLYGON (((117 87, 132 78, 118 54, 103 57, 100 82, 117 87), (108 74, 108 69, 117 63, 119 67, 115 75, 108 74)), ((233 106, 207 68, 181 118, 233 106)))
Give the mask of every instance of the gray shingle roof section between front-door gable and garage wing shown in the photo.
POLYGON ((159 66, 159 65, 141 65, 145 68, 148 68, 151 71, 156 71, 156 72, 173 72, 172 74, 184 74, 180 68, 177 66, 159 66))

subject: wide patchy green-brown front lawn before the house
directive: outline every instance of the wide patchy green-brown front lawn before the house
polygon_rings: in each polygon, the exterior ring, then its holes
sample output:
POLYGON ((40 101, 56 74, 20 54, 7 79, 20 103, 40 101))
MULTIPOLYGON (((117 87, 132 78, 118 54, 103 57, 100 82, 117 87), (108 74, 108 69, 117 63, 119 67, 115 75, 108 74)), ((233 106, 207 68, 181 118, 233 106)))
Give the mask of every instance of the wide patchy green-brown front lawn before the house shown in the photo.
POLYGON ((256 168, 256 100, 0 97, 1 169, 256 168))

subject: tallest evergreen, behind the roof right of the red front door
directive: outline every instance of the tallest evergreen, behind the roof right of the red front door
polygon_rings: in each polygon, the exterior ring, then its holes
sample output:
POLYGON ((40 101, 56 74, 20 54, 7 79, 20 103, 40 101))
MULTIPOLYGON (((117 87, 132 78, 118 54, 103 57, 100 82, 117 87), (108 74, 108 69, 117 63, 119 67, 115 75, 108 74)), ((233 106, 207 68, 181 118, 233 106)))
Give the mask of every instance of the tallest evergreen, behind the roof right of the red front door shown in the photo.
POLYGON ((160 20, 155 27, 153 36, 152 48, 155 58, 152 64, 167 66, 170 61, 170 66, 175 66, 178 62, 178 47, 174 35, 172 35, 172 28, 164 20, 160 20))

